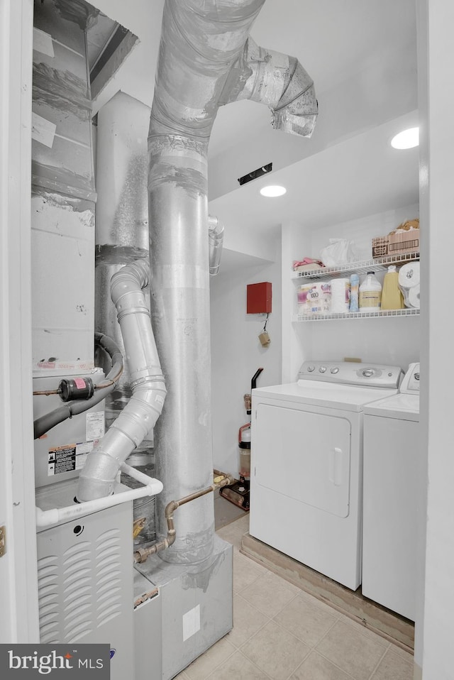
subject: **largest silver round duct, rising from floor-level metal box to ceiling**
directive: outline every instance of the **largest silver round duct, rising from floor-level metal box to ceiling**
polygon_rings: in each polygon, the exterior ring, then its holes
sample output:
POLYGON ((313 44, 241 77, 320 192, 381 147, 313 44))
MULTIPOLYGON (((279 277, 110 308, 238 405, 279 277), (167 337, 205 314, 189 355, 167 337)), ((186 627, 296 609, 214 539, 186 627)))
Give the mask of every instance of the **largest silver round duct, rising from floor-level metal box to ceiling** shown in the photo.
MULTIPOLYGON (((239 60, 248 54, 248 33, 264 1, 166 0, 164 6, 148 138, 151 309, 169 390, 155 429, 156 476, 164 483, 160 522, 170 500, 206 488, 213 475, 207 148, 218 106, 238 99, 248 84, 248 97, 282 104, 277 127, 296 133, 313 127, 305 116, 313 123, 316 102, 300 110, 293 86, 289 101, 282 100, 297 71, 289 57, 273 62, 272 97, 264 96, 260 78, 253 82, 252 73, 243 73, 239 60), (298 114, 302 124, 291 124, 298 114)), ((166 527, 158 531, 165 536, 166 527)), ((213 542, 213 502, 203 496, 182 508, 177 539, 162 559, 201 561, 213 542)))

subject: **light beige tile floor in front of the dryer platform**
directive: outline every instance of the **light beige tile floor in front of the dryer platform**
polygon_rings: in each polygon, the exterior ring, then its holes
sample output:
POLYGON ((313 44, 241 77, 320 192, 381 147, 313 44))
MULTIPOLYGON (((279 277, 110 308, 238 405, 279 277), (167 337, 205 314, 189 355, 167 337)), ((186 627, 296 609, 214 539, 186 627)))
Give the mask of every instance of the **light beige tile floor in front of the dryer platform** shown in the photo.
POLYGON ((413 657, 240 554, 243 515, 218 530, 233 544, 233 630, 178 680, 412 680, 413 657))

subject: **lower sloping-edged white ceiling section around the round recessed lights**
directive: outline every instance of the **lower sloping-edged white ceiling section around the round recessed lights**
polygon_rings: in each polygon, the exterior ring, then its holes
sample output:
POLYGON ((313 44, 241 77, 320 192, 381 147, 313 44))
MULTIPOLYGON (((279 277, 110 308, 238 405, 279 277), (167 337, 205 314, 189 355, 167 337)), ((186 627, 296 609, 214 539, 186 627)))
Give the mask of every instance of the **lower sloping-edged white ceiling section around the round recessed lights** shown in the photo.
POLYGON ((416 124, 413 111, 372 128, 214 199, 210 212, 236 229, 272 234, 282 222, 319 229, 417 203, 418 149, 399 151, 389 143, 416 124), (260 189, 270 183, 287 194, 262 197, 260 189))

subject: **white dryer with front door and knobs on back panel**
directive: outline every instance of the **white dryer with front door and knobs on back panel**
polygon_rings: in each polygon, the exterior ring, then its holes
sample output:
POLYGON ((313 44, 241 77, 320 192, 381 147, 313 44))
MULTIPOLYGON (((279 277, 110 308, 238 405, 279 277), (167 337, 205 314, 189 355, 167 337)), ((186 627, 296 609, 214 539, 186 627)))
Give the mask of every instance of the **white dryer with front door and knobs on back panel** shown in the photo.
POLYGON ((355 590, 361 579, 362 406, 402 369, 305 361, 252 392, 250 534, 355 590))

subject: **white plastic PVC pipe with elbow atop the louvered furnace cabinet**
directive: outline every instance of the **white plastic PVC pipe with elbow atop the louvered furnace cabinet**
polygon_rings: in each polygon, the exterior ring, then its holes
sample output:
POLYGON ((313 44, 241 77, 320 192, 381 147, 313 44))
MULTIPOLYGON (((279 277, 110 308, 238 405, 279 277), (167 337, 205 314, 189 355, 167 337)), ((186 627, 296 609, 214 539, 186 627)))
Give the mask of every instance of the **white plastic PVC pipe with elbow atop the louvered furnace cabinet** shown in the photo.
POLYGON ((82 503, 67 505, 65 508, 52 508, 51 510, 36 508, 36 526, 49 527, 50 525, 62 522, 62 520, 75 520, 77 517, 82 517, 82 515, 89 515, 98 510, 111 508, 113 505, 127 503, 128 500, 143 498, 143 496, 154 496, 157 493, 161 493, 162 482, 160 482, 159 479, 149 477, 126 463, 121 464, 121 470, 143 484, 143 486, 137 489, 129 489, 128 491, 120 491, 119 493, 104 498, 84 500, 82 503))

